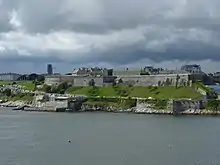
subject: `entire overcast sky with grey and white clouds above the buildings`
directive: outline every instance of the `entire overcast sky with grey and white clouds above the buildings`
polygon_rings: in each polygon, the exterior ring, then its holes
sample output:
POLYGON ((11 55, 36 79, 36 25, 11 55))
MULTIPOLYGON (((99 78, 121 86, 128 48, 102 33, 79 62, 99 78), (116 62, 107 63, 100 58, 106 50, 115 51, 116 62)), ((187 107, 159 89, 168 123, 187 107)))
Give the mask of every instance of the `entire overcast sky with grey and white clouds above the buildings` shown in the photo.
POLYGON ((219 0, 0 0, 0 72, 220 70, 219 0))

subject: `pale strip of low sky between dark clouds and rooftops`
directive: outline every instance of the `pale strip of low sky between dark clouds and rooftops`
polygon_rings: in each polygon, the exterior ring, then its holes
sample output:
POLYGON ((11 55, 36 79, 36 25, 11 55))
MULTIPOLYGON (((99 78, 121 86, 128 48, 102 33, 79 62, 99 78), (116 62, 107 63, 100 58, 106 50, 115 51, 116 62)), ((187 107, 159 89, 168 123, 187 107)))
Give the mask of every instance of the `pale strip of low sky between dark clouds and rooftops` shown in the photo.
MULTIPOLYGON (((9 63, 9 65, 5 65, 2 64, 2 62, 0 62, 0 73, 4 73, 4 72, 15 72, 15 73, 21 73, 21 74, 29 74, 29 73, 47 73, 47 64, 49 63, 14 63, 11 62, 11 64, 9 63), (13 67, 9 67, 9 66, 13 66, 13 67), (25 66, 25 67, 24 67, 25 66)), ((126 68, 126 67, 134 67, 134 68, 141 68, 144 66, 154 66, 154 67, 162 67, 165 69, 180 69, 182 65, 185 64, 199 64, 202 67, 202 70, 205 72, 217 72, 220 71, 220 65, 218 65, 218 62, 212 63, 212 68, 214 69, 210 69, 210 62, 209 61, 202 61, 202 62, 179 62, 179 61, 175 61, 175 62, 163 62, 163 63, 157 63, 157 64, 150 64, 150 63, 146 63, 143 61, 142 63, 139 64, 130 64, 130 65, 109 65, 109 64, 80 64, 80 65, 76 65, 76 64, 69 64, 69 63, 51 63, 53 65, 53 72, 54 73, 68 73, 73 71, 74 68, 79 68, 79 67, 106 67, 106 68, 126 68)))

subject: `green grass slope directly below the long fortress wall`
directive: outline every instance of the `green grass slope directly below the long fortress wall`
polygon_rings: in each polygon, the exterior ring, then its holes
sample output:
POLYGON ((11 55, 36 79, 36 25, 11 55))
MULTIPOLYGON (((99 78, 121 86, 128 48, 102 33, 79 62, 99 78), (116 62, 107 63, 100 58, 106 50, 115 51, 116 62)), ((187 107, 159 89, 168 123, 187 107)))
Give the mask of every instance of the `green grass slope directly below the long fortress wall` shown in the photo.
MULTIPOLYGON (((119 87, 125 91, 129 91, 131 97, 153 97, 160 99, 168 98, 198 98, 201 95, 190 87, 175 88, 172 86, 160 86, 160 87, 119 87)), ((70 94, 82 94, 89 95, 89 90, 92 87, 71 87, 68 89, 70 94)), ((117 91, 113 87, 98 87, 99 96, 119 96, 117 91)))

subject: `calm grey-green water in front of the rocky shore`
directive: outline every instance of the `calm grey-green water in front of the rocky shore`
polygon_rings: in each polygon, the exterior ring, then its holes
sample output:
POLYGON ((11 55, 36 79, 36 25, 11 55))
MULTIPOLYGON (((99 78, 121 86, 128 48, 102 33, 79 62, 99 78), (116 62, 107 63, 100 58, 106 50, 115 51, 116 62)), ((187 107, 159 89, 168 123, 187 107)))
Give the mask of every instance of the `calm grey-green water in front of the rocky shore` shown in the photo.
POLYGON ((220 165, 220 118, 0 109, 0 165, 61 164, 220 165))

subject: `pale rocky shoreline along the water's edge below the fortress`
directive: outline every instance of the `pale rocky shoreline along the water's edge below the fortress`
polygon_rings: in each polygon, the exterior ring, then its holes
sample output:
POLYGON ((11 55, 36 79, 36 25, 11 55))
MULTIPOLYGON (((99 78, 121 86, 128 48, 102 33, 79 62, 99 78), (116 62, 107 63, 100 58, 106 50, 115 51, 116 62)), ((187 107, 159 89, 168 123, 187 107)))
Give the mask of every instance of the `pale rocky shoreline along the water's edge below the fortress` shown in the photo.
MULTIPOLYGON (((32 111, 32 112, 54 112, 48 109, 41 109, 40 107, 34 107, 30 102, 25 101, 0 101, 0 107, 27 107, 22 109, 22 111, 32 111)), ((66 111, 68 112, 68 111, 66 111)), ((174 114, 171 110, 154 110, 150 108, 137 109, 136 107, 122 109, 113 106, 97 106, 97 105, 87 105, 83 104, 81 110, 71 111, 71 112, 112 112, 112 113, 133 113, 133 114, 151 114, 151 115, 197 115, 197 116, 220 116, 220 111, 211 110, 186 110, 178 114, 174 114)))

